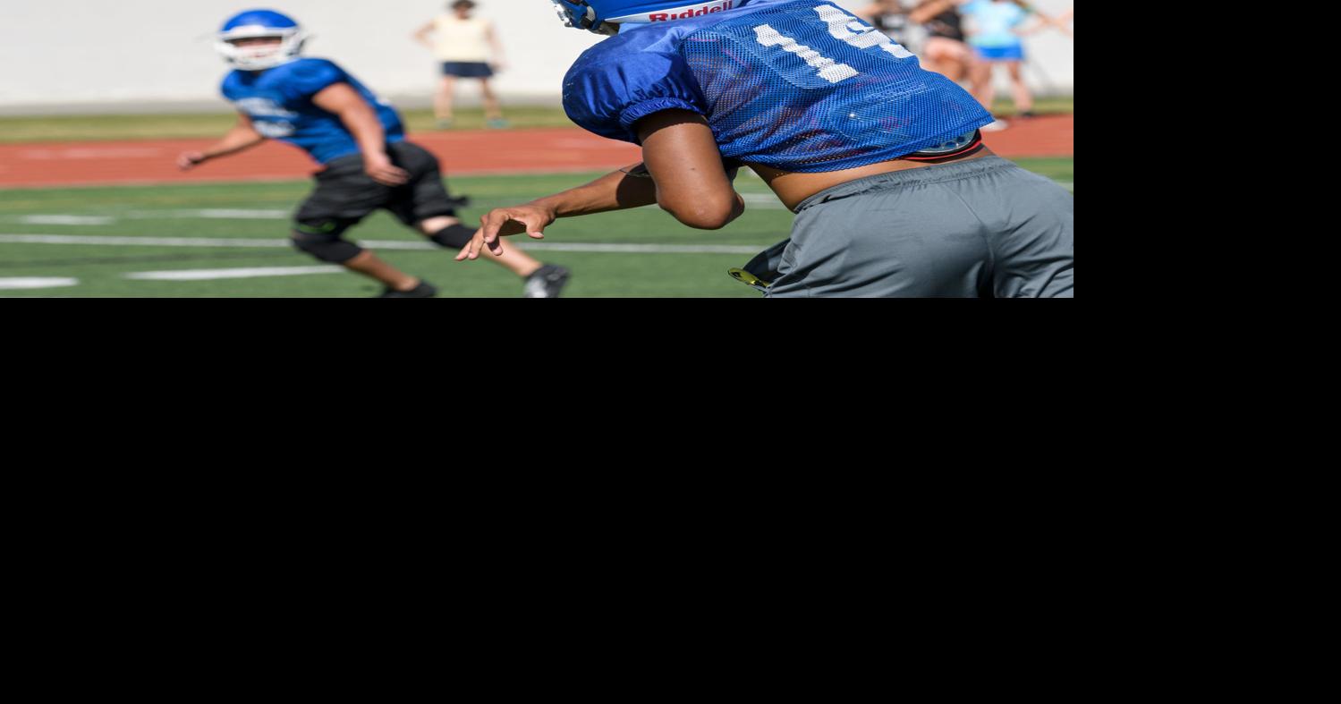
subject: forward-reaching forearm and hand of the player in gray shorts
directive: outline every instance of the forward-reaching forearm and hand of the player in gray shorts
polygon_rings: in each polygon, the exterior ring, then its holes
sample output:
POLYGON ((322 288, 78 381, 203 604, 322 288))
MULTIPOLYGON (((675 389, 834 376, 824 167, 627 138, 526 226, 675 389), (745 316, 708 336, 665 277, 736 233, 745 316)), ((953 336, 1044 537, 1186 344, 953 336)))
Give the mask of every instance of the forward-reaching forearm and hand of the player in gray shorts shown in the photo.
POLYGON ((555 193, 526 205, 496 208, 480 219, 480 229, 467 244, 457 261, 475 260, 488 249, 503 255, 503 237, 526 232, 535 240, 544 239, 544 228, 561 217, 607 213, 642 208, 657 202, 657 186, 652 178, 637 176, 642 164, 609 173, 590 184, 555 193))

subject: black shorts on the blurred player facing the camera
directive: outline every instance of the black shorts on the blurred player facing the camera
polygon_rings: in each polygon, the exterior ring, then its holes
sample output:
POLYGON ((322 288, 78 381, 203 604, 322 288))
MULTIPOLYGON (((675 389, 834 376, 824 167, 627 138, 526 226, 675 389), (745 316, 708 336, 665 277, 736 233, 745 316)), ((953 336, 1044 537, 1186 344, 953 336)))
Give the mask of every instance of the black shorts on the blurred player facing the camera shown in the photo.
POLYGON ((392 164, 410 173, 408 184, 378 184, 363 172, 362 154, 341 157, 315 174, 316 190, 298 208, 295 220, 307 227, 331 223, 343 232, 380 208, 408 227, 430 217, 456 217, 437 157, 410 142, 389 145, 386 153, 392 164))

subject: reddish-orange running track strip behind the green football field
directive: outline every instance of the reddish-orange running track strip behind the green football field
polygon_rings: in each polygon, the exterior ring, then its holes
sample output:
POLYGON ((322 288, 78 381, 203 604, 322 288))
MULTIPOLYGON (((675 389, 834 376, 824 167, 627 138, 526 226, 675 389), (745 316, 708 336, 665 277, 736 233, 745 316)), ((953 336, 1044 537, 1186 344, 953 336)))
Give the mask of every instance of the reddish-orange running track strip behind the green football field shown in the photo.
MULTIPOLYGON (((637 146, 577 127, 422 133, 410 139, 437 154, 448 176, 589 172, 617 169, 640 160, 637 146)), ((1008 130, 988 133, 986 139, 1003 157, 1070 157, 1075 154, 1075 118, 1011 121, 1008 130)), ((0 145, 0 188, 274 181, 302 178, 318 168, 295 148, 267 143, 190 173, 177 170, 177 154, 204 149, 212 142, 0 145)))

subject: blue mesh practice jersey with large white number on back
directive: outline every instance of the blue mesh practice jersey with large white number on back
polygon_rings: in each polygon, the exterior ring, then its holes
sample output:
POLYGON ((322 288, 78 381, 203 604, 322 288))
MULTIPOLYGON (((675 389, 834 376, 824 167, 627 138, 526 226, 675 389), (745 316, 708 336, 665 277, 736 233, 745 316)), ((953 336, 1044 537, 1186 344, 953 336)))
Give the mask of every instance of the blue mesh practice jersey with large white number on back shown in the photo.
POLYGON ((724 157, 802 173, 894 160, 992 122, 967 91, 833 3, 735 7, 621 25, 569 70, 569 117, 637 143, 637 121, 692 110, 724 157))

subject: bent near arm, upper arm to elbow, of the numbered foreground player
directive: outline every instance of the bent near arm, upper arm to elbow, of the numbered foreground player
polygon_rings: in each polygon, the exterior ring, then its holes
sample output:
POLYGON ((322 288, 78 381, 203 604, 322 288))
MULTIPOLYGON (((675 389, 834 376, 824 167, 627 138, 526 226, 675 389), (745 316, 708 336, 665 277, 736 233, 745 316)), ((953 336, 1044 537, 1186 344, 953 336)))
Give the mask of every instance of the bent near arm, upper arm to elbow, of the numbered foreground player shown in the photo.
POLYGON ((746 212, 703 115, 665 110, 642 118, 637 129, 661 209, 696 229, 721 229, 746 212))

